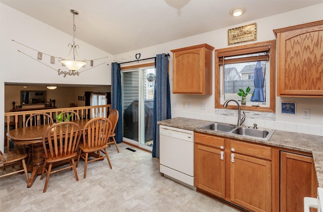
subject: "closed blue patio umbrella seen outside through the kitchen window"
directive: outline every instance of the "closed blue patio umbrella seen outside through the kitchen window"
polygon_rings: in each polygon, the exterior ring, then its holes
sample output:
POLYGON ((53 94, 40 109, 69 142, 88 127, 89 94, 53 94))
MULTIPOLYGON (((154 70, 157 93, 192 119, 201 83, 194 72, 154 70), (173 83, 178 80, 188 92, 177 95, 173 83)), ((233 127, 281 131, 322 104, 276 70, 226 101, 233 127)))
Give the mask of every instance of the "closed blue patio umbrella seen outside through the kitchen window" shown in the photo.
POLYGON ((264 96, 263 96, 264 78, 263 78, 260 61, 256 63, 256 67, 254 68, 253 84, 254 84, 254 91, 253 91, 253 96, 251 96, 250 98, 250 101, 264 102, 264 96))

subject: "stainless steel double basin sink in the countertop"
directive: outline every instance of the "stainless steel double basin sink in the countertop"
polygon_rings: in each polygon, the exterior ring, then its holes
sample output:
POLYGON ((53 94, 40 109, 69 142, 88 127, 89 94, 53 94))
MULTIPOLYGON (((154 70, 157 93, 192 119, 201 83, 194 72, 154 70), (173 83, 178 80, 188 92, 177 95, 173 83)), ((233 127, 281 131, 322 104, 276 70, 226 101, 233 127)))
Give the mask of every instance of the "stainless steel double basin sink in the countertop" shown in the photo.
POLYGON ((212 124, 204 125, 199 127, 199 129, 224 132, 228 134, 241 135, 244 137, 251 137, 262 140, 269 140, 274 133, 274 130, 272 129, 253 129, 248 126, 237 126, 220 122, 214 122, 212 124))

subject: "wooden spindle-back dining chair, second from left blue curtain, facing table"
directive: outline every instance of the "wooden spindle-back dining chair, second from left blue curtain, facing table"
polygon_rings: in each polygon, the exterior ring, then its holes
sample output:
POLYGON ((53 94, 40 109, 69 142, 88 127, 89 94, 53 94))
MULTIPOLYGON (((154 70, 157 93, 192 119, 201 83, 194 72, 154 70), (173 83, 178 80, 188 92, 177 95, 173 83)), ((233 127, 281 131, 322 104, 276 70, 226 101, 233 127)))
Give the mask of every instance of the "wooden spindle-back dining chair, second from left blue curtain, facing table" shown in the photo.
POLYGON ((107 140, 111 134, 111 121, 105 117, 97 117, 88 121, 83 128, 83 143, 79 144, 79 154, 76 167, 80 162, 80 157, 85 161, 84 179, 86 178, 87 163, 104 160, 106 157, 110 169, 112 169, 110 158, 107 155, 107 140), (104 155, 100 155, 102 152, 104 155), (89 160, 89 153, 95 153, 95 157, 89 160))

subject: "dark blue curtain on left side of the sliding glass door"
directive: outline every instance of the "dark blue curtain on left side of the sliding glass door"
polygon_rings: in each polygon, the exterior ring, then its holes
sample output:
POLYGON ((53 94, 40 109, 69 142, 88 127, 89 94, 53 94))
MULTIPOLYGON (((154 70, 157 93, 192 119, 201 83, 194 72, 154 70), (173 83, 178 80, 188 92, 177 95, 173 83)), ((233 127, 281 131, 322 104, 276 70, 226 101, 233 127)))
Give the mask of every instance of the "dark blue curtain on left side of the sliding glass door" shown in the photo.
POLYGON ((122 142, 122 98, 121 98, 121 69, 120 64, 112 63, 112 83, 111 83, 111 109, 118 110, 119 119, 116 126, 116 142, 122 142))

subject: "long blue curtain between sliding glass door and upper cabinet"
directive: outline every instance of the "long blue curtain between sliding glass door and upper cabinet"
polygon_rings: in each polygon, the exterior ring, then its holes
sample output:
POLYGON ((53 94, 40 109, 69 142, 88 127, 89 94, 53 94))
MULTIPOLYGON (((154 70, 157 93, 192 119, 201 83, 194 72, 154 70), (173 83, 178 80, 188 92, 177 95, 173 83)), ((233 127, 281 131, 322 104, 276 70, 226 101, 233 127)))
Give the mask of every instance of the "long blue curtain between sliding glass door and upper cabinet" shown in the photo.
POLYGON ((156 56, 155 68, 152 157, 159 157, 159 125, 157 125, 157 122, 171 118, 171 92, 168 76, 168 57, 166 54, 156 56))

